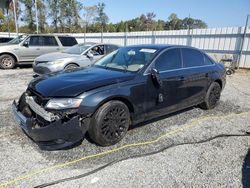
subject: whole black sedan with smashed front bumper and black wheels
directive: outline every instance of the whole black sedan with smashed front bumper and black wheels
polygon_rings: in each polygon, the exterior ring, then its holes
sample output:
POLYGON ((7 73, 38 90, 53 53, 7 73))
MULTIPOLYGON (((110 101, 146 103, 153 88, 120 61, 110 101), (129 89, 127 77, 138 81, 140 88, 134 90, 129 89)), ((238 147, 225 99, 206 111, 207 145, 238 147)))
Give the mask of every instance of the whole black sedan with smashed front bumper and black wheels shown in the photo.
POLYGON ((14 115, 41 149, 119 142, 132 124, 191 106, 212 109, 226 83, 225 68, 187 46, 120 48, 94 65, 35 78, 14 115))

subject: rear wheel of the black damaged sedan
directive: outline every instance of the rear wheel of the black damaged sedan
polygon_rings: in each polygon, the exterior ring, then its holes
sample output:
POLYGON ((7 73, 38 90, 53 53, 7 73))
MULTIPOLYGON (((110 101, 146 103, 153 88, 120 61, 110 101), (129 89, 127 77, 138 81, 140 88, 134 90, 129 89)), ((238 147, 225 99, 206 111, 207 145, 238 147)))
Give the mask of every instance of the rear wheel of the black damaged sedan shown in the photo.
POLYGON ((199 106, 204 110, 213 109, 220 100, 221 86, 217 82, 213 82, 206 94, 205 101, 199 106))

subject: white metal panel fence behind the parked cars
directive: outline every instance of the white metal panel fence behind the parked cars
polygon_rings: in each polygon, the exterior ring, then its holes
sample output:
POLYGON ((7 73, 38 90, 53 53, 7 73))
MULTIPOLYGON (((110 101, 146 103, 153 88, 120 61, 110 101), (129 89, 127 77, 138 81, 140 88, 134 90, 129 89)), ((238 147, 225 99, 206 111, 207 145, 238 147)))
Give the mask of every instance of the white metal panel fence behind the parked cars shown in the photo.
MULTIPOLYGON (((200 48, 217 61, 233 59, 239 67, 250 68, 250 28, 226 27, 194 30, 120 32, 120 33, 68 33, 78 42, 104 42, 118 45, 177 44, 200 48)), ((14 34, 11 33, 13 36, 14 34)), ((8 33, 0 33, 8 36, 8 33)))

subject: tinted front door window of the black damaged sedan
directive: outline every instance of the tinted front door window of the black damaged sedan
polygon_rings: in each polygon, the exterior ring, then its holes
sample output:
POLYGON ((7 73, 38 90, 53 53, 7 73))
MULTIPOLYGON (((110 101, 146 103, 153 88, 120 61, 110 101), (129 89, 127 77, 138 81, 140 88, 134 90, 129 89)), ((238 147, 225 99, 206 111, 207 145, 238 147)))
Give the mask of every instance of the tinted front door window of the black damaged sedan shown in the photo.
POLYGON ((161 54, 156 62, 155 67, 158 71, 179 69, 182 67, 180 49, 167 50, 161 54))

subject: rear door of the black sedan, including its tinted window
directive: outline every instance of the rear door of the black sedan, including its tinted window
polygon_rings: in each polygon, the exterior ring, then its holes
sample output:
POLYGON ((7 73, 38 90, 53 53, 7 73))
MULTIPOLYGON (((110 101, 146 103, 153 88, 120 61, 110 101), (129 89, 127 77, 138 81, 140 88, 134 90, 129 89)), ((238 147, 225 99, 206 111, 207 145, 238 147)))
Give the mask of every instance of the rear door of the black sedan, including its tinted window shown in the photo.
POLYGON ((203 101, 208 87, 208 78, 211 64, 205 64, 202 52, 192 48, 182 48, 183 58, 183 83, 187 96, 186 106, 203 101))

